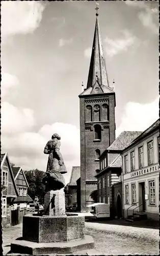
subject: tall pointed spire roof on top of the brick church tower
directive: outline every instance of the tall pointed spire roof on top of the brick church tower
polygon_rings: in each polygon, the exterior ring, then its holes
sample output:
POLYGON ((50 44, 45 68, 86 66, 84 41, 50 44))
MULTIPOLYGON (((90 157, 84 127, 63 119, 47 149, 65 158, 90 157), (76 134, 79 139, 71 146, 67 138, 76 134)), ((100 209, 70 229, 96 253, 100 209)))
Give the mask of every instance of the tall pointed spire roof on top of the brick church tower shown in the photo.
POLYGON ((108 74, 105 67, 105 59, 101 42, 98 14, 96 14, 96 25, 93 38, 92 54, 87 82, 87 89, 80 95, 114 93, 110 87, 108 74))

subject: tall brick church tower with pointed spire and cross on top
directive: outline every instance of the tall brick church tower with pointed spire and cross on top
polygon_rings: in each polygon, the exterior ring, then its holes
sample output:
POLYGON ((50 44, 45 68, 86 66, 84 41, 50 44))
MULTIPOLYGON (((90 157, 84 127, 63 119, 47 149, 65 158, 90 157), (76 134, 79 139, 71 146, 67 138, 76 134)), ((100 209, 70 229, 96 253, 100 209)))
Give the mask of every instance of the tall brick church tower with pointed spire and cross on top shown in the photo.
MULTIPOLYGON (((96 8, 98 10, 98 7, 96 8)), ((81 135, 81 211, 94 200, 99 156, 115 140, 115 92, 110 87, 101 43, 98 13, 87 88, 79 95, 81 135)))

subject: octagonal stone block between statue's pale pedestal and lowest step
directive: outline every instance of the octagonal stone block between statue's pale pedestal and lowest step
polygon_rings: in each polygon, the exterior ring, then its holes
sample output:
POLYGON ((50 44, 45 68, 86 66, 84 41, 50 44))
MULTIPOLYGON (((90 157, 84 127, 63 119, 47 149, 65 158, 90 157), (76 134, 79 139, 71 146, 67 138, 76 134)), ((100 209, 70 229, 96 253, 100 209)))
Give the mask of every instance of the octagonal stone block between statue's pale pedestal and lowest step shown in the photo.
POLYGON ((23 216, 23 240, 45 243, 84 239, 84 216, 23 216))

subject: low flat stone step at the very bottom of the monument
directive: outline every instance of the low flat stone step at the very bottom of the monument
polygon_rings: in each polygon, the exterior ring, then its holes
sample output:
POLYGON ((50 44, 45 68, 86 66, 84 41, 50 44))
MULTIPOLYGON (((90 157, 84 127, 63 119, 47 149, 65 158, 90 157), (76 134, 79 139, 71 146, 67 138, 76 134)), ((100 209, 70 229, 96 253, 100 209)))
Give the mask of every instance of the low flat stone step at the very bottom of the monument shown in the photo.
POLYGON ((42 255, 51 253, 66 254, 93 248, 94 240, 91 236, 85 236, 84 239, 77 239, 61 243, 34 243, 24 240, 16 240, 14 243, 11 243, 12 253, 24 253, 30 255, 42 255))

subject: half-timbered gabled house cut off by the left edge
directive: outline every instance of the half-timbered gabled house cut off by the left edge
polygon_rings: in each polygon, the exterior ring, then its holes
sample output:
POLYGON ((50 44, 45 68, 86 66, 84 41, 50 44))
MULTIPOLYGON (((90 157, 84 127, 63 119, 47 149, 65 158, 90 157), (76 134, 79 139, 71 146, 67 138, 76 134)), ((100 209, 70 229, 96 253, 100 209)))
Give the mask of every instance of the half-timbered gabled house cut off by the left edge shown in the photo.
POLYGON ((2 225, 5 227, 11 225, 11 204, 18 196, 8 153, 1 155, 1 177, 2 225))

